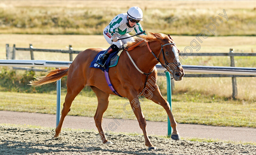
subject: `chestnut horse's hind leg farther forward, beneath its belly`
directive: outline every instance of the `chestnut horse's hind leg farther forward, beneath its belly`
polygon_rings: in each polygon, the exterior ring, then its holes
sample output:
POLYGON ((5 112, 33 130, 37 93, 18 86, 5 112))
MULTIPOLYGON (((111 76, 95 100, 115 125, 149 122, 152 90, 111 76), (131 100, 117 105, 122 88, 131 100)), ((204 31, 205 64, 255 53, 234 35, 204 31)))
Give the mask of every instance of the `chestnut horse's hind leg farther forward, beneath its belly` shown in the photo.
POLYGON ((90 87, 94 91, 94 93, 96 94, 96 96, 98 98, 98 107, 97 107, 96 113, 94 115, 94 121, 95 121, 96 127, 98 128, 99 134, 101 136, 101 142, 104 144, 112 143, 107 140, 107 138, 103 132, 103 128, 102 128, 102 117, 103 117, 104 112, 108 108, 110 94, 101 91, 97 87, 94 87, 94 86, 90 86, 90 87))

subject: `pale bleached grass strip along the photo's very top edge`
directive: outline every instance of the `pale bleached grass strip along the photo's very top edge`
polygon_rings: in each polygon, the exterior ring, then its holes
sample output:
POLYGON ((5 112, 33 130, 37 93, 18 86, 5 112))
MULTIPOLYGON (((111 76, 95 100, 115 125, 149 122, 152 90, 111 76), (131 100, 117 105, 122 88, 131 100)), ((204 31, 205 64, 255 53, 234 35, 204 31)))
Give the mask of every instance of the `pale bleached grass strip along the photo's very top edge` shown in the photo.
MULTIPOLYGON (((111 4, 111 8, 126 9, 130 6, 141 8, 159 9, 252 9, 256 5, 255 1, 144 1, 144 0, 1 0, 1 7, 67 7, 67 8, 106 8, 111 4), (146 2, 146 4, 145 4, 146 2), (123 5, 120 5, 123 4, 123 5), (125 4, 125 5, 124 5, 125 4)), ((108 7, 109 8, 109 7, 108 7)))

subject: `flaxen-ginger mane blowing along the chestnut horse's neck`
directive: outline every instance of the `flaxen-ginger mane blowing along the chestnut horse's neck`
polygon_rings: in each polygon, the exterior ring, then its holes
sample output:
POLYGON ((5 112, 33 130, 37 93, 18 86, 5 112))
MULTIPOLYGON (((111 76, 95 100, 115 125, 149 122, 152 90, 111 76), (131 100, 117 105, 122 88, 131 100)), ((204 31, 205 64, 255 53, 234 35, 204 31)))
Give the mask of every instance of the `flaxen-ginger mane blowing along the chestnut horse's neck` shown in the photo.
MULTIPOLYGON (((145 40, 145 41, 148 41, 148 42, 151 42, 151 41, 157 41, 158 39, 157 38, 160 38, 160 39, 167 39, 169 40, 169 37, 166 35, 166 34, 162 34, 162 33, 153 33, 153 32, 148 32, 147 35, 140 35, 139 37, 137 37, 135 39, 135 41, 133 42, 128 42, 128 46, 127 48, 133 46, 133 45, 136 45, 138 42, 142 41, 142 40, 145 40)), ((146 46, 146 42, 142 42, 140 45, 138 46, 146 46)))

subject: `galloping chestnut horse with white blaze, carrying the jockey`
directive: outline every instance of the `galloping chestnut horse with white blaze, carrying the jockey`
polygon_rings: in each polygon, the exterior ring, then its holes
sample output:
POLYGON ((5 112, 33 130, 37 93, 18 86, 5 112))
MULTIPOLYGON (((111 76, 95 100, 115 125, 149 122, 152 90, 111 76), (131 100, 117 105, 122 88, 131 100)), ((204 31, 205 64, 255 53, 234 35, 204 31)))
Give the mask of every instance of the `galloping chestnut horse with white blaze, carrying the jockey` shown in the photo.
MULTIPOLYGON (((168 101, 162 97, 158 88, 157 70, 155 69, 155 65, 161 63, 166 69, 165 71, 173 75, 174 80, 182 80, 184 71, 179 61, 179 50, 176 44, 170 34, 148 32, 147 35, 140 35, 135 38, 135 41, 128 42, 127 45, 128 46, 125 48, 126 52, 123 51, 119 57, 118 64, 109 68, 108 73, 115 90, 121 96, 129 99, 133 113, 143 131, 145 145, 148 146, 148 150, 156 149, 148 138, 146 120, 138 100, 140 96, 145 96, 145 98, 152 100, 165 109, 173 129, 171 138, 180 140, 180 135, 177 131, 177 123, 172 115, 170 105, 168 101), (130 55, 132 59, 129 59, 128 55, 130 55), (149 82, 149 79, 155 80, 149 82), (151 96, 148 94, 151 94, 151 96)), ((48 75, 44 77, 37 77, 34 81, 30 81, 30 85, 40 86, 55 82, 67 75, 67 93, 59 125, 55 129, 54 137, 59 136, 62 123, 70 111, 73 100, 79 92, 88 85, 98 98, 98 107, 94 115, 94 121, 101 136, 102 143, 112 143, 105 137, 101 123, 103 114, 108 108, 110 94, 116 94, 110 90, 105 80, 104 72, 100 69, 89 67, 94 57, 101 50, 101 48, 86 49, 76 56, 69 68, 57 68, 49 71, 48 75)))

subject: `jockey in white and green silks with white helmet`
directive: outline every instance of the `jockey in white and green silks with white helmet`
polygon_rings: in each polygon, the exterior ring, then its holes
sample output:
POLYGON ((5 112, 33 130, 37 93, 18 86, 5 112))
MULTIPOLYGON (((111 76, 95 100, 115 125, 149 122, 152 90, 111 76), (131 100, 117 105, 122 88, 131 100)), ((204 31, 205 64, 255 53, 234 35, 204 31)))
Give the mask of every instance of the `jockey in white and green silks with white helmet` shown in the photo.
MULTIPOLYGON (((111 20, 109 25, 105 27, 103 31, 106 41, 111 46, 96 61, 96 63, 98 63, 101 67, 104 67, 110 53, 119 50, 123 44, 126 44, 129 41, 134 41, 132 37, 123 40, 118 39, 130 37, 131 35, 128 33, 133 30, 136 34, 142 32, 143 30, 139 23, 142 21, 142 16, 143 13, 141 9, 137 6, 133 6, 127 11, 127 13, 121 13, 111 20)), ((144 35, 146 34, 144 33, 144 35)))

